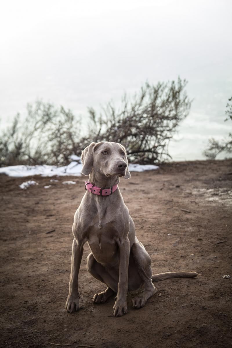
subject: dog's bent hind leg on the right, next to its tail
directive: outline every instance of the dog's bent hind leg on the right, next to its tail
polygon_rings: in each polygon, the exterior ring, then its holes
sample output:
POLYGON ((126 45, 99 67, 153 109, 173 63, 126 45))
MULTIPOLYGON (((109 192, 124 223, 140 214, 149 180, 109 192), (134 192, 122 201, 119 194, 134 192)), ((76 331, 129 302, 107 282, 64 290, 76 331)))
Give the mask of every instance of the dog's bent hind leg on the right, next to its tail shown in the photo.
POLYGON ((138 274, 142 279, 142 283, 144 283, 143 293, 132 300, 132 306, 139 309, 145 306, 146 301, 157 292, 157 288, 152 284, 151 258, 143 244, 137 240, 131 248, 131 253, 138 274))

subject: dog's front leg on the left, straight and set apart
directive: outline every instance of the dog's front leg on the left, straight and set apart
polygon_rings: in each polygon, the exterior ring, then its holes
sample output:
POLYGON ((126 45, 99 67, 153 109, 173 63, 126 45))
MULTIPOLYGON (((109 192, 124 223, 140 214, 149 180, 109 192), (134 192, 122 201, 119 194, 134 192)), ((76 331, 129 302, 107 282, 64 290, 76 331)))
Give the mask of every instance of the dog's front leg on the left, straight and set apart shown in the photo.
POLYGON ((72 264, 71 274, 69 281, 69 296, 66 301, 65 309, 67 312, 74 312, 79 310, 79 292, 78 292, 78 273, 81 265, 81 259, 83 255, 83 244, 73 239, 72 243, 72 264))

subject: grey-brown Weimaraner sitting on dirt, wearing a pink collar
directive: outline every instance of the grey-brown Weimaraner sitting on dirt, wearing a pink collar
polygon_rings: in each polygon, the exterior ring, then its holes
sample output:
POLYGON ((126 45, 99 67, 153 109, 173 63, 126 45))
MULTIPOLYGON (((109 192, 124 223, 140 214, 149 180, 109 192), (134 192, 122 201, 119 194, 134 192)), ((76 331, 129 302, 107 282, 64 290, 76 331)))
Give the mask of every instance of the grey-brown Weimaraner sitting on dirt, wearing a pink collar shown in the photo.
POLYGON ((104 283, 106 289, 94 295, 94 303, 104 303, 117 294, 113 306, 116 317, 127 313, 127 291, 144 285, 142 294, 132 301, 134 308, 144 307, 157 292, 152 282, 167 278, 197 276, 196 272, 168 272, 152 275, 151 259, 135 236, 135 225, 117 187, 119 178, 130 178, 125 148, 112 142, 91 143, 81 156, 82 171, 89 175, 87 190, 74 215, 72 265, 67 312, 79 310, 78 273, 83 245, 91 253, 87 258, 89 273, 104 283))

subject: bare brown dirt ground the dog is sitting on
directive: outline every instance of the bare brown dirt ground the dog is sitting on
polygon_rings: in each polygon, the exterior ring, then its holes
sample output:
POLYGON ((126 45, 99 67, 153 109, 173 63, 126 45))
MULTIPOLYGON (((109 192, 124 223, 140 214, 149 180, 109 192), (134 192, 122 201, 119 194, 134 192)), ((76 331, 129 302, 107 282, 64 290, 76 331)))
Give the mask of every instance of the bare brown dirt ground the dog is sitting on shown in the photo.
POLYGON ((81 309, 64 309, 73 215, 86 177, 34 176, 39 185, 19 188, 30 179, 0 176, 1 347, 231 347, 232 278, 222 277, 232 275, 231 160, 172 163, 121 179, 153 273, 199 276, 155 283, 158 292, 139 310, 131 300, 142 288, 128 293, 128 314, 118 318, 113 298, 92 303, 104 286, 86 270, 88 245, 79 275, 81 309), (76 184, 62 184, 67 180, 76 184))

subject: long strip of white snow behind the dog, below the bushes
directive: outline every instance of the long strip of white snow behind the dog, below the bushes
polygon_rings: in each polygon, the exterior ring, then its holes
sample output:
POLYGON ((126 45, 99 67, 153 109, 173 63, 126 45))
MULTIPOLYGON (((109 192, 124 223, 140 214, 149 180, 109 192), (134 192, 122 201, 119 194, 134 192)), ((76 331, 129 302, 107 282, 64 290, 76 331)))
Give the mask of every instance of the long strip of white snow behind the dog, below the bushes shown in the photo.
MULTIPOLYGON (((73 155, 75 156, 75 155, 73 155)), ((78 156, 76 156, 78 157, 78 156)), ((72 161, 69 165, 63 167, 57 166, 48 166, 48 165, 38 165, 38 166, 10 166, 10 167, 2 167, 0 168, 0 174, 4 173, 9 176, 33 176, 33 175, 41 175, 41 176, 81 176, 81 168, 82 164, 77 161, 72 161)), ((151 171, 154 169, 158 169, 158 166, 153 164, 129 164, 130 172, 144 172, 151 171)))

